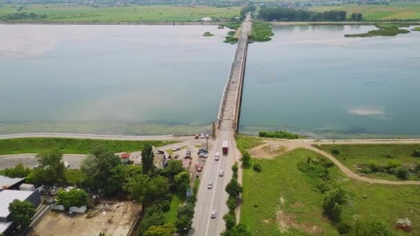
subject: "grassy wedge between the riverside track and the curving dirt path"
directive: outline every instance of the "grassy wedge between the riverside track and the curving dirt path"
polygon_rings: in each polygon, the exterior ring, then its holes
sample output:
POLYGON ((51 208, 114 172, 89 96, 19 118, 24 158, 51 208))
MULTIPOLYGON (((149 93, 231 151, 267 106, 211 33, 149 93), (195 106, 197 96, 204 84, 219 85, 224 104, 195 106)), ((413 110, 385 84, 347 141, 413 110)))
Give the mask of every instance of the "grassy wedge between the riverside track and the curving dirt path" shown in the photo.
POLYGON ((359 175, 367 175, 377 179, 398 180, 395 175, 388 173, 386 166, 401 164, 411 169, 413 175, 410 180, 419 180, 414 174, 415 165, 420 164, 420 157, 413 157, 415 148, 420 144, 341 144, 341 145, 314 145, 314 147, 330 153, 343 165, 359 175), (358 166, 359 168, 356 168, 358 166), (363 168, 378 169, 372 173, 365 172, 363 168), (363 173, 361 173, 363 172, 363 173))

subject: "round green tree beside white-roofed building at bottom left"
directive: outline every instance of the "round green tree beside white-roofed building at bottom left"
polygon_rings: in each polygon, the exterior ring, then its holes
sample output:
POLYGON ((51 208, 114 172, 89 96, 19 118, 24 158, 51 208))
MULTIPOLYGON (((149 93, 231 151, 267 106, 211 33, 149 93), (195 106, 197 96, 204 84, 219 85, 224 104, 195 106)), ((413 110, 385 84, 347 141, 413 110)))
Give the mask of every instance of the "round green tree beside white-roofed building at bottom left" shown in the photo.
POLYGON ((15 199, 9 204, 8 209, 12 221, 17 222, 22 228, 28 227, 30 222, 32 222, 32 217, 35 215, 34 205, 29 201, 15 199))

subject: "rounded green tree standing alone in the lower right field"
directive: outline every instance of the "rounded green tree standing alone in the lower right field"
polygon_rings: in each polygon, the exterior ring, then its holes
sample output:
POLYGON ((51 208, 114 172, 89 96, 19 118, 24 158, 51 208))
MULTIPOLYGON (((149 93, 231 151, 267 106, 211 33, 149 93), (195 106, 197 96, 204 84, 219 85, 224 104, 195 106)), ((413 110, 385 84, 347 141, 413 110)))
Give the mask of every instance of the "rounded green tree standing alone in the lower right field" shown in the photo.
POLYGON ((347 197, 343 188, 338 186, 328 191, 324 195, 323 208, 324 213, 334 222, 341 220, 341 208, 347 202, 347 197))

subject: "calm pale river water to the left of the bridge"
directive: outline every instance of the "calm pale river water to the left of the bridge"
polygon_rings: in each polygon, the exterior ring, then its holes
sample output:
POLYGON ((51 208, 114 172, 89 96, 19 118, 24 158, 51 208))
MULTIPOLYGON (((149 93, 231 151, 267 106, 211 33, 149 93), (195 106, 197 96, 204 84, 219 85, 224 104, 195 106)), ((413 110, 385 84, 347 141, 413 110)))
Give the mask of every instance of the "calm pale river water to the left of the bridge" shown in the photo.
POLYGON ((208 125, 217 116, 235 50, 222 42, 227 31, 216 26, 1 25, 0 132, 208 125), (202 37, 207 31, 215 36, 202 37))

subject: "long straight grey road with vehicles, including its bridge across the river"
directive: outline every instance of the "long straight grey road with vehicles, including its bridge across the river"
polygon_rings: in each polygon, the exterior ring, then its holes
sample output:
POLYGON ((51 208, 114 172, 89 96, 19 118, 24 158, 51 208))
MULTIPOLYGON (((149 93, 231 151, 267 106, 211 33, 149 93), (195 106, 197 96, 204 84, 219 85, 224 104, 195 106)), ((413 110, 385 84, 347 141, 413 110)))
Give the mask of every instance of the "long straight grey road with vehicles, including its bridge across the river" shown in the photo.
POLYGON ((235 133, 240 110, 240 98, 242 96, 242 81, 247 57, 248 35, 251 31, 251 14, 247 14, 242 22, 242 32, 238 40, 235 59, 233 60, 229 78, 222 95, 218 114, 218 137, 215 150, 210 150, 209 157, 204 166, 198 190, 198 200, 195 206, 193 229, 190 235, 214 236, 220 235, 225 230, 223 215, 228 213, 225 187, 233 175, 231 166, 239 159, 240 153, 236 148, 235 133), (222 153, 222 142, 229 141, 228 155, 222 155, 219 161, 214 159, 214 153, 222 153), (220 177, 219 171, 224 170, 225 175, 220 177), (208 189, 209 181, 213 188, 208 189), (216 219, 211 219, 211 211, 216 210, 216 219))

